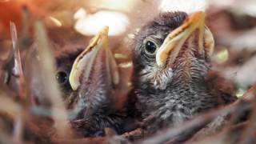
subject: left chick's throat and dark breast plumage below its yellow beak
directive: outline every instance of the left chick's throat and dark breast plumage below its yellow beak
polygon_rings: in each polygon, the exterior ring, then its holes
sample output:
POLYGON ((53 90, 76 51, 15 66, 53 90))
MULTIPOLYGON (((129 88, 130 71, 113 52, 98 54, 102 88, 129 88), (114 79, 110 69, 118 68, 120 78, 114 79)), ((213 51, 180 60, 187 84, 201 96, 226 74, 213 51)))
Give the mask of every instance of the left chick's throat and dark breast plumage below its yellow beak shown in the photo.
POLYGON ((104 129, 111 128, 117 134, 125 132, 126 108, 115 106, 115 90, 111 80, 109 56, 105 48, 88 53, 88 62, 83 67, 81 86, 74 91, 73 110, 78 115, 71 120, 76 132, 83 137, 104 136, 104 129), (95 55, 94 58, 90 54, 95 55), (89 63, 93 62, 92 65, 89 63), (91 67, 90 67, 91 66, 91 67), (89 76, 86 72, 89 70, 89 76))

